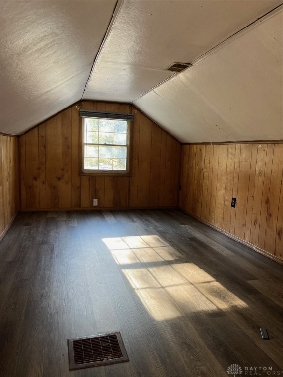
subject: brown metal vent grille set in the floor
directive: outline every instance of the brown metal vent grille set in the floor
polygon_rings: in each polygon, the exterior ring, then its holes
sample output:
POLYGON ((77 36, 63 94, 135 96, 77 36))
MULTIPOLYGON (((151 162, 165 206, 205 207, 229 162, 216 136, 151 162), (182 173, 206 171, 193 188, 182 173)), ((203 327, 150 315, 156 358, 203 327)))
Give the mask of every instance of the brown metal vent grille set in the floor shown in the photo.
POLYGON ((129 361, 120 332, 68 339, 69 369, 129 361))

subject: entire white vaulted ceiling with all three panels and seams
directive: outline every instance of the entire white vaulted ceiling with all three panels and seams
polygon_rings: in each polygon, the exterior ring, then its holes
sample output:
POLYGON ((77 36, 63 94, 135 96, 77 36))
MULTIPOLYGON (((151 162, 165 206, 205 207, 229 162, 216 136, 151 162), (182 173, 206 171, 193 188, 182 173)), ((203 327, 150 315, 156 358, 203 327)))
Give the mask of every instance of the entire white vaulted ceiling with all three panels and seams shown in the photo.
POLYGON ((0 132, 81 99, 182 142, 282 139, 282 1, 0 1, 0 132))

